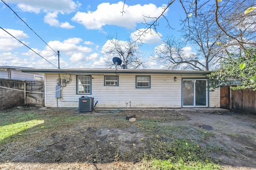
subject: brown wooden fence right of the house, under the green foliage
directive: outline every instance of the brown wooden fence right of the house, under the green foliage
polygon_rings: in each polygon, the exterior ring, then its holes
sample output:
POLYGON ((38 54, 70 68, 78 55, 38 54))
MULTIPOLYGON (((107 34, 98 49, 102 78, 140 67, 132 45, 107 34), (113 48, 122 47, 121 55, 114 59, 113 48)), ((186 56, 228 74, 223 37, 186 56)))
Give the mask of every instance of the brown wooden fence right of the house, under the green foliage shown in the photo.
POLYGON ((230 90, 228 86, 220 88, 220 107, 238 109, 256 113, 256 91, 251 89, 230 90))

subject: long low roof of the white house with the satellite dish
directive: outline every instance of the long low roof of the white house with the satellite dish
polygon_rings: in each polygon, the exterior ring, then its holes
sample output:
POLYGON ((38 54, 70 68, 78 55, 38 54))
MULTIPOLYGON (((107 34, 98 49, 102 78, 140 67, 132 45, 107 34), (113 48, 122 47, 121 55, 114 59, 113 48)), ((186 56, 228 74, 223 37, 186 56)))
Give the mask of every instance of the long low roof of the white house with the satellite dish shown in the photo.
POLYGON ((115 74, 209 74, 212 71, 199 71, 199 70, 160 70, 160 69, 122 69, 122 68, 21 68, 16 69, 22 72, 33 72, 33 73, 115 73, 115 74))

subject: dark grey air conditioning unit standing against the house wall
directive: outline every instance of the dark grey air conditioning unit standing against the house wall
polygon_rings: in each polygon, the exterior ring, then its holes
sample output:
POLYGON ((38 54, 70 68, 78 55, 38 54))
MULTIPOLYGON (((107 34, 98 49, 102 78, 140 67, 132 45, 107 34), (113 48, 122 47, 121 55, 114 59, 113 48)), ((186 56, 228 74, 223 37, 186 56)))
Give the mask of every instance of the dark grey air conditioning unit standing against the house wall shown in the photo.
POLYGON ((94 109, 94 97, 82 96, 79 98, 79 112, 91 112, 94 109))

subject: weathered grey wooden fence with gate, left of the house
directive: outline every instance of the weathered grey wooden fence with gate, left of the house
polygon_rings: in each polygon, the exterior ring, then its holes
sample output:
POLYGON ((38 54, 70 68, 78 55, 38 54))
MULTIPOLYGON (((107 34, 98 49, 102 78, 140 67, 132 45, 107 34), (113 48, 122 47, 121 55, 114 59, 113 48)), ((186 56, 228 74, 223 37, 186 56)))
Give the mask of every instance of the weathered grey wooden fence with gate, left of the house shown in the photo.
POLYGON ((0 86, 5 87, 0 87, 0 109, 24 105, 44 106, 44 82, 42 81, 0 78, 0 86))

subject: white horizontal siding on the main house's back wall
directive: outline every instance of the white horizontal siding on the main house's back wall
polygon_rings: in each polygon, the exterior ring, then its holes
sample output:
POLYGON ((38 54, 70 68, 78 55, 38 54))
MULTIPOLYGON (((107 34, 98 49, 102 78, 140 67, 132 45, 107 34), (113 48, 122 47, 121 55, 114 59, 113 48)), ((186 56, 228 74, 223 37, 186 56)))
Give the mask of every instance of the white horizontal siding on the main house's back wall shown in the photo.
MULTIPOLYGON (((58 99, 58 107, 78 107, 78 100, 82 96, 94 97, 94 102, 98 101, 97 107, 105 108, 123 108, 126 107, 126 103, 128 103, 127 107, 132 108, 181 107, 182 78, 205 77, 180 74, 118 74, 119 86, 104 86, 104 75, 111 76, 117 74, 92 75, 91 95, 76 94, 76 75, 72 75, 71 83, 62 88, 62 98, 58 99), (151 88, 136 88, 136 75, 151 76, 151 88), (174 76, 177 77, 177 81, 174 81, 174 76)), ((55 89, 56 79, 59 79, 59 77, 61 79, 69 78, 70 75, 47 73, 45 76, 46 107, 57 107, 55 89)), ((210 92, 210 103, 211 100, 218 102, 215 96, 210 92)))

